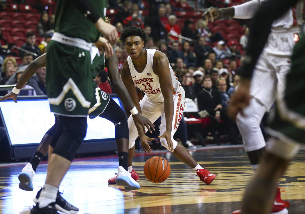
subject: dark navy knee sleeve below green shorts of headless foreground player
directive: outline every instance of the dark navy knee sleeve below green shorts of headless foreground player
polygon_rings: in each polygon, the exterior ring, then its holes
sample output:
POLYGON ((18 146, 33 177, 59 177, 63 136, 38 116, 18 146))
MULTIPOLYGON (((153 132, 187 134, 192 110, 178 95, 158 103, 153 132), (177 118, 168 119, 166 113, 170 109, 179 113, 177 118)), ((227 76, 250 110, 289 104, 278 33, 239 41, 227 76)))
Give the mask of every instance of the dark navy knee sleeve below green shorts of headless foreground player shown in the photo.
POLYGON ((63 129, 53 153, 72 161, 86 136, 87 118, 59 116, 59 121, 63 129))

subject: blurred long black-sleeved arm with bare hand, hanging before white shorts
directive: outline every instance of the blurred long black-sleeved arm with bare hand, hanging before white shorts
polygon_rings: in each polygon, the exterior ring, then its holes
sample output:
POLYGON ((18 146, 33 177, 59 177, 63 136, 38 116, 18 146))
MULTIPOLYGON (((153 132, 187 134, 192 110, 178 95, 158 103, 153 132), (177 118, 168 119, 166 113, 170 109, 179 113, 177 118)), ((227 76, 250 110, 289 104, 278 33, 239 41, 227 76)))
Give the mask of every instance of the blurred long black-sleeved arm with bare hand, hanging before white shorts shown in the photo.
POLYGON ((228 108, 228 115, 235 119, 238 112, 249 105, 250 80, 256 62, 267 41, 274 20, 282 16, 297 0, 269 0, 264 2, 255 13, 250 28, 249 41, 241 73, 241 82, 235 91, 228 108), (257 35, 260 35, 257 37, 257 35))

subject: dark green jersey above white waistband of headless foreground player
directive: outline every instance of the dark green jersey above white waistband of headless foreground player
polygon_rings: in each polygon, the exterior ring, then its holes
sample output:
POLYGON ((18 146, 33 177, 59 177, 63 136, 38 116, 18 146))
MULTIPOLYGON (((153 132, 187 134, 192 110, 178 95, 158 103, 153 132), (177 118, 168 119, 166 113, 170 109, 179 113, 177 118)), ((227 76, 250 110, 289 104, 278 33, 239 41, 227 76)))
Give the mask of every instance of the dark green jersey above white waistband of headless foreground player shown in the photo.
MULTIPOLYGON (((88 0, 92 3, 102 19, 106 16, 106 0, 88 0)), ((100 37, 100 32, 84 14, 81 13, 69 0, 59 0, 55 12, 55 32, 69 37, 95 42, 100 37)))

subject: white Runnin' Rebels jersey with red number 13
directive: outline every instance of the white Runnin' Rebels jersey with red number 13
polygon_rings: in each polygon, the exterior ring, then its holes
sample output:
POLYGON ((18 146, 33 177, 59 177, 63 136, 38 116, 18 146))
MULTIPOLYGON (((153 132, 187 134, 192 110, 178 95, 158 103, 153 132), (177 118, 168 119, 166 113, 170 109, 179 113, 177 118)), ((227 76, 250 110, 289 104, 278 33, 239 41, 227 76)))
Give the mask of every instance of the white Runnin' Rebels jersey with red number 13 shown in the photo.
MULTIPOLYGON (((145 93, 145 97, 154 102, 164 102, 163 95, 161 93, 160 81, 158 75, 152 70, 152 61, 155 55, 156 49, 145 49, 147 51, 147 61, 145 69, 139 73, 135 70, 135 66, 130 56, 127 57, 127 62, 133 82, 145 93)), ((162 52, 161 52, 162 53, 162 52)), ((163 54, 163 53, 162 53, 163 54)), ((169 65, 170 76, 172 79, 173 95, 175 95, 181 88, 181 84, 176 77, 173 69, 169 65)))

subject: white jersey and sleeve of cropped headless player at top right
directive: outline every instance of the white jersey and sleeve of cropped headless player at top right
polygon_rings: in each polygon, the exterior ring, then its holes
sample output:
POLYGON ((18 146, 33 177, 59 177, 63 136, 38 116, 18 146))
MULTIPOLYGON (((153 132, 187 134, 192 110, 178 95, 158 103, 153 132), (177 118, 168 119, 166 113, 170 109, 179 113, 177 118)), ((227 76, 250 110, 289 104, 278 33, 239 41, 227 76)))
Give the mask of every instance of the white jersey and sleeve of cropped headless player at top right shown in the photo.
MULTIPOLYGON (((253 18, 254 13, 259 6, 267 0, 252 0, 241 5, 234 6, 236 19, 250 19, 253 18)), ((293 26, 300 26, 303 22, 302 14, 304 9, 304 1, 300 0, 296 5, 291 7, 283 16, 272 23, 272 28, 291 28, 293 26)))

